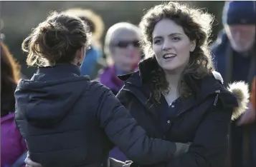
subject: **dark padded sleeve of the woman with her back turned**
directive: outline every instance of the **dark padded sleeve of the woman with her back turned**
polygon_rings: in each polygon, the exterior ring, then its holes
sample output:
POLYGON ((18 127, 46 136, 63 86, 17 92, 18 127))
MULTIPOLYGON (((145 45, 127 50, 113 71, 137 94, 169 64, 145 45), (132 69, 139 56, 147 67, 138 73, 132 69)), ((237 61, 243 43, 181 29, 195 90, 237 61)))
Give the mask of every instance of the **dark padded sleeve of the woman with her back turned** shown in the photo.
POLYGON ((125 156, 142 165, 167 162, 174 156, 176 144, 149 138, 108 88, 93 82, 90 91, 100 127, 125 156))

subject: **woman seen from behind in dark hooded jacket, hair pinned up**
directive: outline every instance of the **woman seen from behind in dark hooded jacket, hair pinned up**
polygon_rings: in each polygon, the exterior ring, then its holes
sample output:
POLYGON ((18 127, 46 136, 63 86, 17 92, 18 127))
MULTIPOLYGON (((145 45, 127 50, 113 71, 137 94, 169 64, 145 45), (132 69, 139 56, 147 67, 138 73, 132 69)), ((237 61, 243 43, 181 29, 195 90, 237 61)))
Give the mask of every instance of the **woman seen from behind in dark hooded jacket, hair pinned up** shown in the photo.
POLYGON ((87 26, 76 16, 52 13, 22 44, 37 66, 15 91, 15 119, 32 161, 43 166, 108 166, 113 144, 144 165, 169 161, 189 148, 150 138, 111 91, 80 66, 87 26))

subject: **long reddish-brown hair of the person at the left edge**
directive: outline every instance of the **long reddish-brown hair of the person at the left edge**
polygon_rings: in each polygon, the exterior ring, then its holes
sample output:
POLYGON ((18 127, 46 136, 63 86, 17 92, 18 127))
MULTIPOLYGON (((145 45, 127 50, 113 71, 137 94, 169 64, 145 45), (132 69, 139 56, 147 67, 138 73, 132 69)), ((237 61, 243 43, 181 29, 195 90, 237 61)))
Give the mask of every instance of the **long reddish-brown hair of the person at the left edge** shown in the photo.
POLYGON ((11 55, 4 42, 0 42, 1 51, 1 116, 15 110, 14 91, 20 79, 20 66, 11 55))

